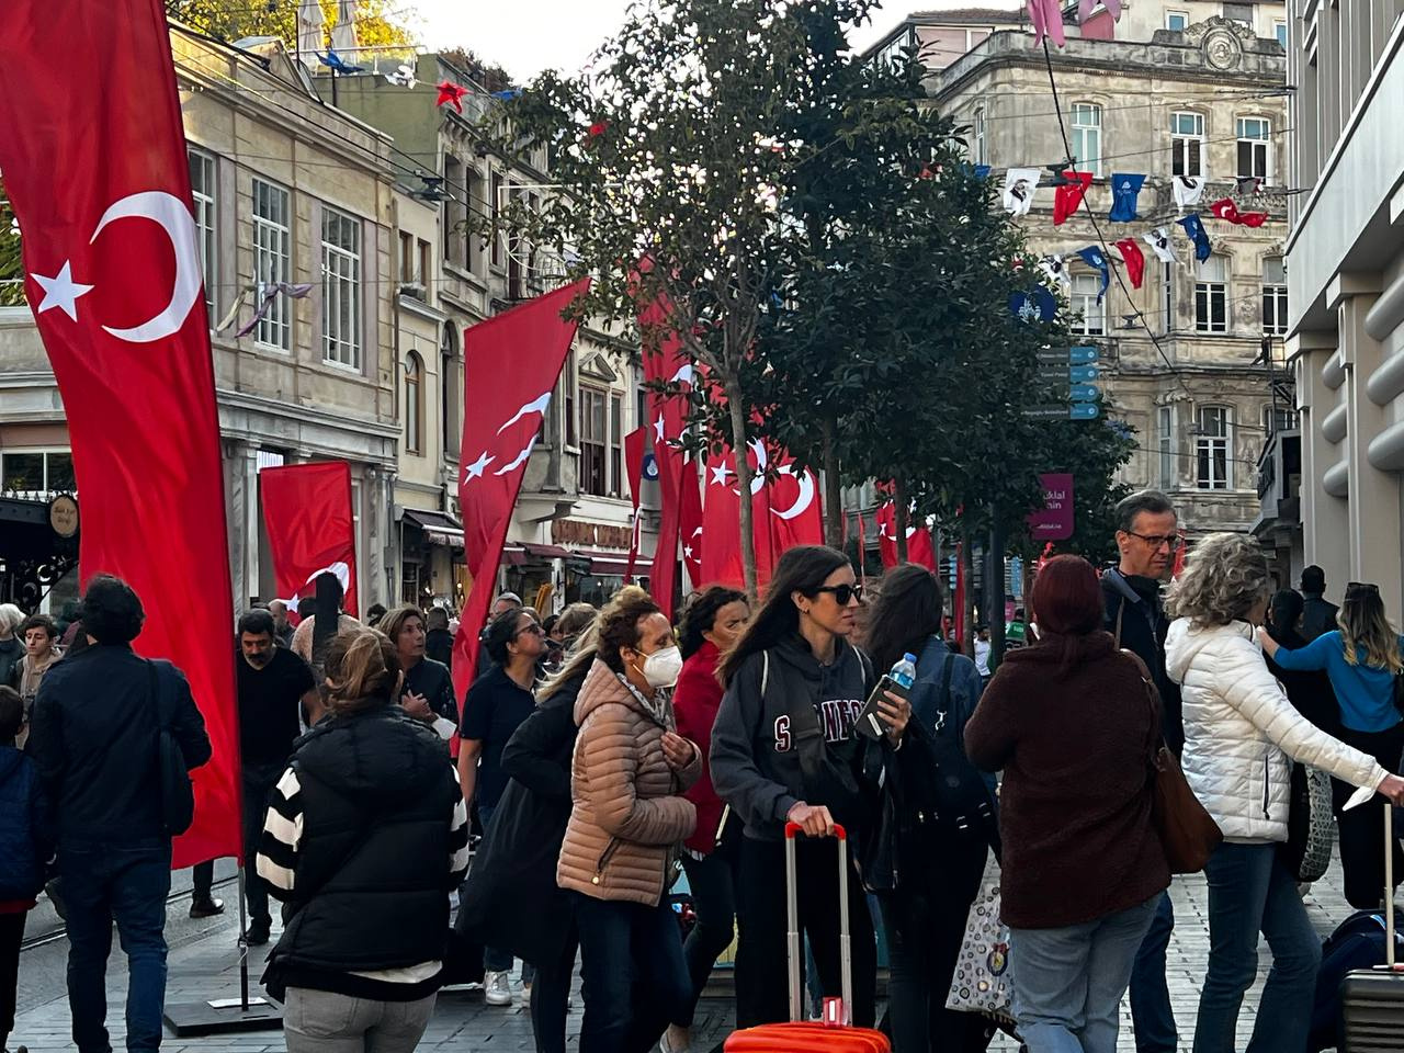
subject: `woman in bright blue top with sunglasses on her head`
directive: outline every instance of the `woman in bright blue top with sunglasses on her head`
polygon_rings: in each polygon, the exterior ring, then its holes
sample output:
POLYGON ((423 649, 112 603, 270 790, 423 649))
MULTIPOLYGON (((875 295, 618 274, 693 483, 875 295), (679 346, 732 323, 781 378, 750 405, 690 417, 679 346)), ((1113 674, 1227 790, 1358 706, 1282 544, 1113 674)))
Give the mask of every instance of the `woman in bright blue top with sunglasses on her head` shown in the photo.
MULTIPOLYGON (((1283 647, 1258 630, 1268 657, 1289 673, 1325 670, 1339 702, 1341 741, 1367 753, 1386 771, 1400 767, 1404 753, 1404 719, 1396 702, 1396 678, 1404 673, 1400 650, 1404 640, 1384 614, 1379 585, 1352 581, 1337 614, 1339 629, 1317 636, 1304 647, 1283 647)), ((1379 807, 1342 812, 1355 788, 1332 779, 1331 796, 1341 831, 1341 869, 1345 899, 1356 910, 1380 906, 1384 873, 1384 817, 1379 807)), ((1394 842, 1394 880, 1404 879, 1404 852, 1394 842)))

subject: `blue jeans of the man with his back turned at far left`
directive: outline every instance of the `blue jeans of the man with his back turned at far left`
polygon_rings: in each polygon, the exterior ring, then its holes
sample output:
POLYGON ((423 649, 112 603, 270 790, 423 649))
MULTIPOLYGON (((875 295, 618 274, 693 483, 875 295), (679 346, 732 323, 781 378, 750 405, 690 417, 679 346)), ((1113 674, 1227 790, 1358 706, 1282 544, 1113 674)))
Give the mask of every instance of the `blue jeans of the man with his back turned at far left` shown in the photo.
POLYGON ((112 922, 126 953, 126 1047, 160 1049, 166 1005, 166 897, 171 842, 86 844, 59 848, 69 908, 69 1008, 80 1053, 110 1053, 107 958, 112 922))

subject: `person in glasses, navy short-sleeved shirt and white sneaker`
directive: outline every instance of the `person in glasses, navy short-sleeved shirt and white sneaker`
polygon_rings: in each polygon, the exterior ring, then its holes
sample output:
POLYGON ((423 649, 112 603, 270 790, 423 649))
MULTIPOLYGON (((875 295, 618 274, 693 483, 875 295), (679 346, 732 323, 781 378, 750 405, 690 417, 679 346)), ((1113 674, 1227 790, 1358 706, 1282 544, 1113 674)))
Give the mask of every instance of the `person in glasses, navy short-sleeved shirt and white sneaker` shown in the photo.
MULTIPOLYGON (((493 667, 468 689, 463 702, 458 781, 470 810, 473 799, 477 799, 477 819, 486 831, 507 788, 503 747, 536 708, 532 685, 536 661, 546 653, 546 633, 535 611, 518 607, 497 615, 487 625, 484 646, 493 667)), ((483 949, 483 990, 489 1005, 512 1004, 507 979, 511 969, 511 951, 483 949)))

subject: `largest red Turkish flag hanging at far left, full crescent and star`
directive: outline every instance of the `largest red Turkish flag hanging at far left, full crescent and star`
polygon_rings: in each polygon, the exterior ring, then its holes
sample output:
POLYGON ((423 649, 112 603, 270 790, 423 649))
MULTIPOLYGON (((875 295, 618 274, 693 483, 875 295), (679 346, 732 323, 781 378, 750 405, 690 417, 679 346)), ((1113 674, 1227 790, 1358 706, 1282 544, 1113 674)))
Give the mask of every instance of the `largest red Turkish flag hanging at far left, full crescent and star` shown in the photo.
POLYGON ((67 416, 81 573, 136 590, 136 649, 173 661, 205 717, 173 865, 241 856, 225 472, 166 11, 6 0, 0 39, 0 170, 67 416))

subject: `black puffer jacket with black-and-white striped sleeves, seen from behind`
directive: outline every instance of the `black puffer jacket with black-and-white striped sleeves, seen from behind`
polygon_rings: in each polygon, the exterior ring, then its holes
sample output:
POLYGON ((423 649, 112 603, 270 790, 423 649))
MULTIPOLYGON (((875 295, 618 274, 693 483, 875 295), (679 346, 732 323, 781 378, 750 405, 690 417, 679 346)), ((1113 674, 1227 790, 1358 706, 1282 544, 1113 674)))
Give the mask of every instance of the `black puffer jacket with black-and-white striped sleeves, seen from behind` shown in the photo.
POLYGON ((270 826, 258 852, 270 892, 291 910, 268 959, 270 990, 359 994, 347 973, 442 960, 462 803, 448 746, 399 706, 380 705, 307 731, 289 775, 270 807, 284 819, 300 812, 302 838, 292 849, 270 826), (278 880, 288 872, 291 892, 278 880))

